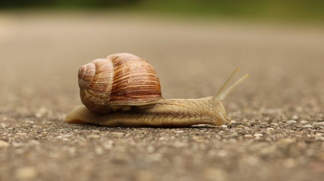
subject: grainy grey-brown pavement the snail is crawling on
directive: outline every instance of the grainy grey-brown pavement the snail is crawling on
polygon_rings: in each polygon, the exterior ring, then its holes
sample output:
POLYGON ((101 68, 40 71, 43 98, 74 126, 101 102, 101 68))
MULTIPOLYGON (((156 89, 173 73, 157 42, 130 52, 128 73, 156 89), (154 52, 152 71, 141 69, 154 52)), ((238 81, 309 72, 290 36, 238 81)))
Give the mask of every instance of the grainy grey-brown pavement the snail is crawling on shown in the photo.
POLYGON ((323 181, 324 29, 111 14, 0 14, 1 181, 323 181), (66 124, 79 66, 130 52, 165 98, 213 95, 226 126, 66 124), (239 78, 238 76, 237 78, 239 78))

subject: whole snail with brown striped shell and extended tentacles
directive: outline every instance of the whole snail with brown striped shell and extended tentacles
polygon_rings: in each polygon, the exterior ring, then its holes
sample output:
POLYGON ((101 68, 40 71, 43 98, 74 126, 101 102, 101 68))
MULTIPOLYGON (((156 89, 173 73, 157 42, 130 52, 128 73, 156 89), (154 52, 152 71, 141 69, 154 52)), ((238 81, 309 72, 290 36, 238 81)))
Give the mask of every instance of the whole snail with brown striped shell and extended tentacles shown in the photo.
POLYGON ((198 99, 164 99, 154 68, 144 59, 117 53, 80 67, 78 84, 84 105, 65 117, 67 123, 90 123, 107 127, 188 127, 197 124, 220 126, 230 119, 224 98, 244 79, 229 86, 231 74, 214 96, 198 99))

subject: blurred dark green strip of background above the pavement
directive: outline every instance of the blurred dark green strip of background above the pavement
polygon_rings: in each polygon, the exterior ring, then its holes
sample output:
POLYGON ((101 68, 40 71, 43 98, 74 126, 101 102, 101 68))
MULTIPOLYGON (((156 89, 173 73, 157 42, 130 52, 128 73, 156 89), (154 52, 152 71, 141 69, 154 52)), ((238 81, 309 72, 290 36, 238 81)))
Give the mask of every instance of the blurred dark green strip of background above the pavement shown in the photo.
POLYGON ((4 0, 1 9, 132 10, 243 19, 324 20, 324 0, 4 0))

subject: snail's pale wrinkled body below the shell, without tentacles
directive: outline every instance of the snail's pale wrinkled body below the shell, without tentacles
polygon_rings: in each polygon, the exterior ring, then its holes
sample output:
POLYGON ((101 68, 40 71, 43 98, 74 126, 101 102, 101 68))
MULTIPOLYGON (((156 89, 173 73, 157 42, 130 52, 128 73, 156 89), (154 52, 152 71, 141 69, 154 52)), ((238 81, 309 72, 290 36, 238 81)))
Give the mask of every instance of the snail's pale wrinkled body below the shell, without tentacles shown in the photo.
POLYGON ((115 127, 187 127, 197 124, 220 126, 228 122, 221 101, 215 106, 212 97, 199 99, 162 99, 153 105, 131 107, 109 114, 95 114, 84 106, 74 108, 65 118, 67 123, 91 123, 115 127))

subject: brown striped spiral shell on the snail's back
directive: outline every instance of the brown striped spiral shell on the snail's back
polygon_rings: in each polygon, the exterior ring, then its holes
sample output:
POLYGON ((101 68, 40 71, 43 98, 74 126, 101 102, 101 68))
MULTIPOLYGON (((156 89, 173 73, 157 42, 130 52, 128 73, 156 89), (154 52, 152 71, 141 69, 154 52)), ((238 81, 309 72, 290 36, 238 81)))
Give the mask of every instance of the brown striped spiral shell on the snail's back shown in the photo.
POLYGON ((80 67, 78 79, 82 103, 96 113, 155 104, 162 99, 152 65, 130 53, 93 60, 80 67))

